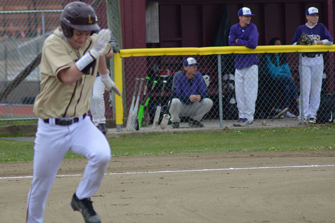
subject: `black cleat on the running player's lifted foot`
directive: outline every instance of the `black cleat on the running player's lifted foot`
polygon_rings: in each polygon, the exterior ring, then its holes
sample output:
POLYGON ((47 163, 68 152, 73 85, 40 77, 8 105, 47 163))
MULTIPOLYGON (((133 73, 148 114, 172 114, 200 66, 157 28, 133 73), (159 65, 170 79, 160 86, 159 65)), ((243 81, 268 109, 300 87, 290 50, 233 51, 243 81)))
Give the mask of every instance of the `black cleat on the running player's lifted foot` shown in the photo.
POLYGON ((90 198, 79 200, 76 193, 72 196, 71 207, 74 211, 80 211, 86 223, 101 223, 99 215, 94 211, 90 198))

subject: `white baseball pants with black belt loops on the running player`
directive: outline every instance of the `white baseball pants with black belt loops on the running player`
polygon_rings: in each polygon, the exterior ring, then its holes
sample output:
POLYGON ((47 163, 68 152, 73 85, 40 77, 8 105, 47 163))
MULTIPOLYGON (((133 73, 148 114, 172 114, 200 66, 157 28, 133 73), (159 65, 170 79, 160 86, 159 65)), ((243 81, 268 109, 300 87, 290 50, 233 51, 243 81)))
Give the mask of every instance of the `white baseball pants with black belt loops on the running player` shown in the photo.
POLYGON ((43 222, 49 191, 68 150, 88 159, 75 192, 77 197, 89 198, 100 187, 111 159, 111 149, 106 137, 94 126, 89 116, 68 126, 55 125, 54 118, 50 118, 49 123, 39 119, 34 147, 34 177, 27 201, 28 223, 43 222))

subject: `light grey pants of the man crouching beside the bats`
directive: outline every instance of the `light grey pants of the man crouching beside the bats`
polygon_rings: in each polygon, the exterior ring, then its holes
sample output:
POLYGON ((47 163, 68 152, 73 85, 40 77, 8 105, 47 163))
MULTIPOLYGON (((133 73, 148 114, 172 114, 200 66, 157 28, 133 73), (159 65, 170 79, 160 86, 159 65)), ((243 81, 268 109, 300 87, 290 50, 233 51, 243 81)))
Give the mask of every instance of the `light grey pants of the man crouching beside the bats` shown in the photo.
POLYGON ((202 117, 211 109, 213 101, 204 98, 200 102, 184 104, 179 98, 173 98, 170 105, 171 122, 180 122, 180 117, 190 117, 196 121, 201 121, 202 117))

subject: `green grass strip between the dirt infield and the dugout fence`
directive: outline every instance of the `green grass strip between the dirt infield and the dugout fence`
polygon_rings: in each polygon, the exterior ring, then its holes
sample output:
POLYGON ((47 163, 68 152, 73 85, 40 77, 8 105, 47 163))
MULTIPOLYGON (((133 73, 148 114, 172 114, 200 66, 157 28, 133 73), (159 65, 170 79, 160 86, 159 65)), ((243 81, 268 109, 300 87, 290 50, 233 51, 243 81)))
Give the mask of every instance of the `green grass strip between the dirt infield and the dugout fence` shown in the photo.
MULTIPOLYGON (((335 149, 335 125, 109 138, 113 156, 335 149)), ((98 146, 98 145, 97 145, 98 146)), ((0 162, 31 161, 34 142, 0 140, 0 162)), ((65 158, 82 158, 68 152, 65 158)))

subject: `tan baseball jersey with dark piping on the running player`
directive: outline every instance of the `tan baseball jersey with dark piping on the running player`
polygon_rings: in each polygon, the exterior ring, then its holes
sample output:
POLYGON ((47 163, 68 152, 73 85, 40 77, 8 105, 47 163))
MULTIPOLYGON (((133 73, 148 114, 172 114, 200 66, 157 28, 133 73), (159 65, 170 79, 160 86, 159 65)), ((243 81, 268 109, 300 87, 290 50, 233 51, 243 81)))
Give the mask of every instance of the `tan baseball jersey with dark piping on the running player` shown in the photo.
MULTIPOLYGON (((91 49, 96 34, 91 35, 80 49, 74 49, 58 27, 45 40, 41 58, 41 92, 34 104, 34 114, 47 119, 80 117, 90 107, 90 94, 97 74, 99 60, 73 85, 62 83, 57 74, 71 67, 85 52, 91 49)), ((111 50, 108 45, 105 54, 111 50)))

